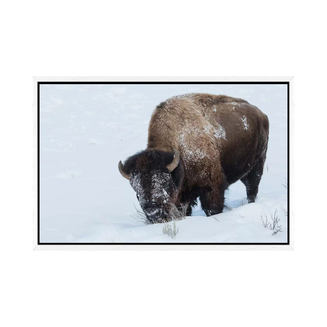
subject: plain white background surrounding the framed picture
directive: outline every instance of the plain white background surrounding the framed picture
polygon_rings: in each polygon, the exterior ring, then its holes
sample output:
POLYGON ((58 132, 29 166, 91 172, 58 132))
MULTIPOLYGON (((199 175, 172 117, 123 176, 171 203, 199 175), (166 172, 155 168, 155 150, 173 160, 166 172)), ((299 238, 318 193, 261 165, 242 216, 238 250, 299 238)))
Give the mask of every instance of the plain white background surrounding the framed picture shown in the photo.
POLYGON ((2 6, 2 324, 323 324, 326 52, 319 3, 2 6), (32 251, 31 76, 128 75, 295 76, 295 251, 32 251))

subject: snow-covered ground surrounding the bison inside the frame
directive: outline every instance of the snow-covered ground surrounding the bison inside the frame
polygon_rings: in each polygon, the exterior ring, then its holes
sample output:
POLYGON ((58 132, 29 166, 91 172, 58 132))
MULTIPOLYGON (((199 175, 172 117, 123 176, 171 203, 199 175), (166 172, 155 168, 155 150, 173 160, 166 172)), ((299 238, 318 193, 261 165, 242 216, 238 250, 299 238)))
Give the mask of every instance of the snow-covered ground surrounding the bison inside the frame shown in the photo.
MULTIPOLYGON (((40 242, 287 242, 287 85, 278 84, 41 84, 40 242), (136 218, 136 194, 117 168, 146 148, 156 105, 191 92, 244 98, 269 118, 265 171, 256 203, 245 186, 226 193, 232 211, 206 217, 200 205, 176 222, 176 239, 163 224, 136 218), (243 199, 244 205, 240 202, 243 199), (282 232, 272 235, 261 215, 277 209, 282 232)), ((265 218, 265 216, 264 216, 265 218)), ((171 223, 170 223, 171 224, 171 223)))

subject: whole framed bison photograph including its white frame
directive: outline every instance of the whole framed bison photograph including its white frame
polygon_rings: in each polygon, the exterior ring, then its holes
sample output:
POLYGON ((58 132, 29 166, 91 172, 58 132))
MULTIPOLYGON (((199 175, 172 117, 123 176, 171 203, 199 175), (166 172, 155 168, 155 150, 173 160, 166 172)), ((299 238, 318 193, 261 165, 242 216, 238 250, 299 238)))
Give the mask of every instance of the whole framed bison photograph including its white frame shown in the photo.
POLYGON ((293 250, 293 77, 34 77, 35 250, 293 250))

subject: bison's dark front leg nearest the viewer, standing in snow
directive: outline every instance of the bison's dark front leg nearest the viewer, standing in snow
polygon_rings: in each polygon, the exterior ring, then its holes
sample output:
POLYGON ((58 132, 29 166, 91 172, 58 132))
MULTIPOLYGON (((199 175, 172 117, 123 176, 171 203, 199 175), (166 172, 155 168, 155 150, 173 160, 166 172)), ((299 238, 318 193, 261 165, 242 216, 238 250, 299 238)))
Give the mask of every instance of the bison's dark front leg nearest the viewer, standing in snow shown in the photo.
POLYGON ((200 194, 201 207, 207 216, 221 214, 224 208, 225 190, 221 188, 203 190, 200 194))

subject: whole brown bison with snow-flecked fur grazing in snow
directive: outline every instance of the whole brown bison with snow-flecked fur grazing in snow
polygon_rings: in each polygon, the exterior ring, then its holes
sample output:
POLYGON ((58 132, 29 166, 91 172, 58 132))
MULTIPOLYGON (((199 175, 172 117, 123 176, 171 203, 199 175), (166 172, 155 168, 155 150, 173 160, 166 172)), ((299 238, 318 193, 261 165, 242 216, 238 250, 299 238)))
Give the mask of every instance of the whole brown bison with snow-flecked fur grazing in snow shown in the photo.
POLYGON ((268 145, 267 115, 248 101, 226 95, 173 96, 154 110, 147 148, 118 169, 129 180, 146 217, 167 217, 171 205, 200 198, 207 216, 220 214, 224 193, 241 180, 254 202, 268 145))

